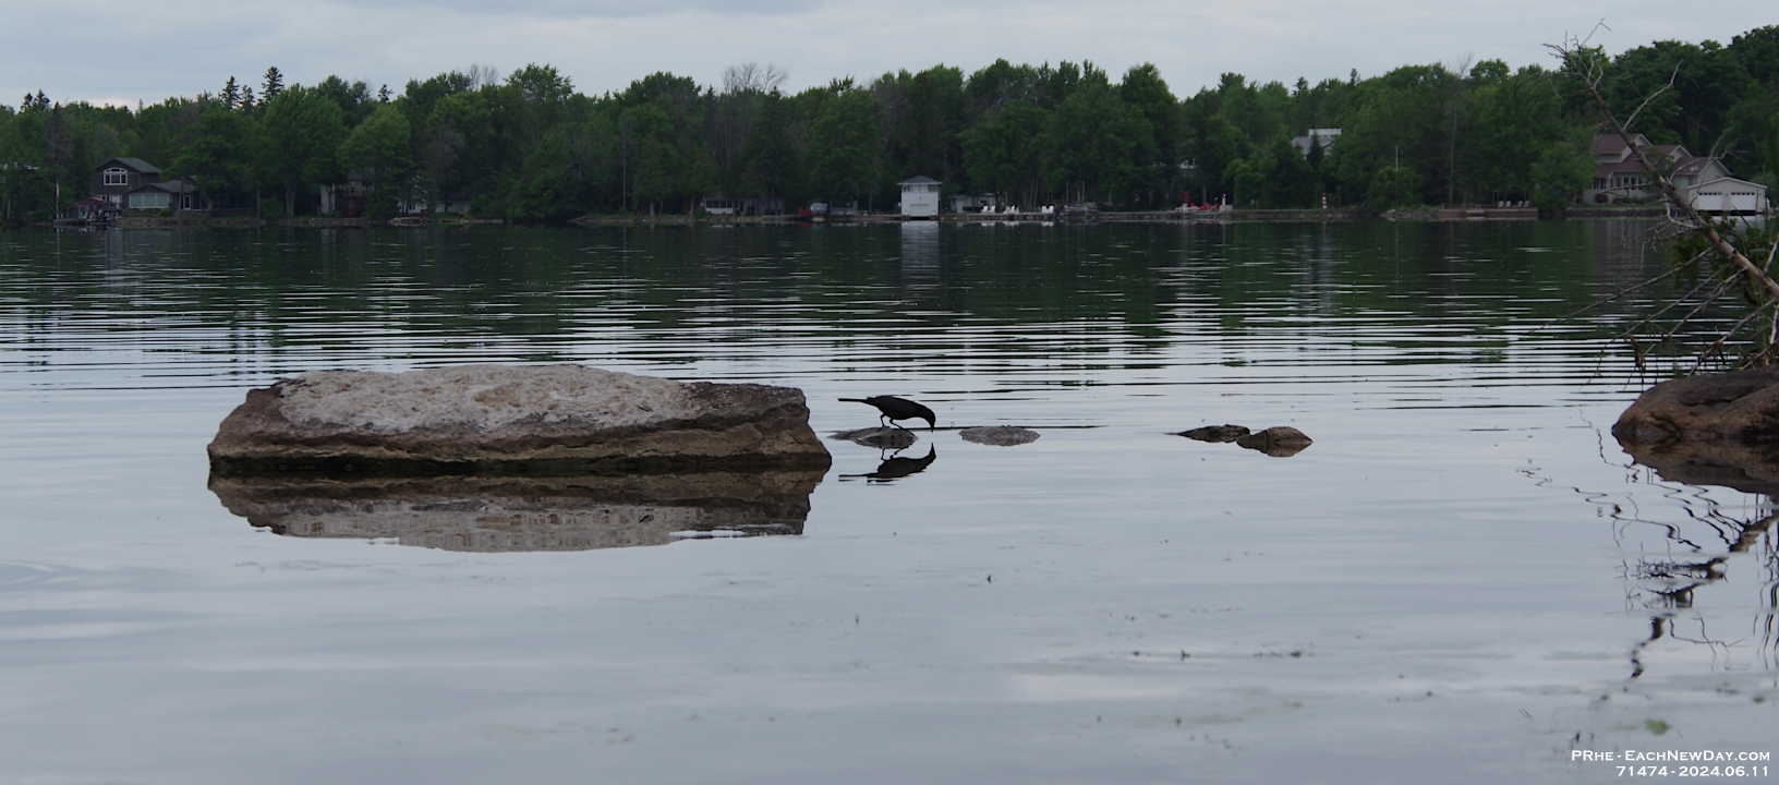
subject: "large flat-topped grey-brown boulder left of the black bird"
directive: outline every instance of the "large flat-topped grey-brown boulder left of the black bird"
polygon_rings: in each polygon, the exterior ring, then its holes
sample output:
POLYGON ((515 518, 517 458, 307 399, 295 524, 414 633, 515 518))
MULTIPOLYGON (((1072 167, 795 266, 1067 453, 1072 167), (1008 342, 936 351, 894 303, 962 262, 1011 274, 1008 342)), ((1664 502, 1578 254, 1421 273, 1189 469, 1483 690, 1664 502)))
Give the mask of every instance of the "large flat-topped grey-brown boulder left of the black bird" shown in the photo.
POLYGON ((585 365, 318 370, 247 392, 215 475, 578 475, 829 466, 801 390, 585 365))

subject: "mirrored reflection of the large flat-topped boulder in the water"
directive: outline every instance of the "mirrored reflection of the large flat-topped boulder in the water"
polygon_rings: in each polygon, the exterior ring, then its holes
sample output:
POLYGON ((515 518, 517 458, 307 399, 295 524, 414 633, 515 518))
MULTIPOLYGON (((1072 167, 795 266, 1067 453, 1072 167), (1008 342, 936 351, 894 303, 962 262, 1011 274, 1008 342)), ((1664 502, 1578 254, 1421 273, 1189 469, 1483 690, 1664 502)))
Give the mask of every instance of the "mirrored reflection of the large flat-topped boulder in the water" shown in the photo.
POLYGON ((292 538, 439 550, 592 550, 802 534, 824 472, 614 477, 210 477, 229 513, 292 538))

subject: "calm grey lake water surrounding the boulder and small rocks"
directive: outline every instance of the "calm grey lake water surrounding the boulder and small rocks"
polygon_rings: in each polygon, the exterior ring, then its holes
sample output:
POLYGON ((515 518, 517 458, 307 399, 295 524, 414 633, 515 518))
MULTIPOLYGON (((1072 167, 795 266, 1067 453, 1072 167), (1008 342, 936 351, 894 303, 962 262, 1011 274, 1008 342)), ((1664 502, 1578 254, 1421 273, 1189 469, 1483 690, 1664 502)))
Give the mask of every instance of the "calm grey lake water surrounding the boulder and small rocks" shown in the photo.
POLYGON ((1621 778, 1576 749, 1770 755, 1772 502, 1612 440, 1644 301, 1551 324, 1665 269, 1644 230, 0 233, 0 781, 1567 783, 1621 778), (829 440, 793 536, 294 536, 206 488, 253 386, 486 361, 795 386, 822 434, 895 393, 941 429, 893 481, 829 440), (1213 424, 1315 445, 1171 434, 1213 424))

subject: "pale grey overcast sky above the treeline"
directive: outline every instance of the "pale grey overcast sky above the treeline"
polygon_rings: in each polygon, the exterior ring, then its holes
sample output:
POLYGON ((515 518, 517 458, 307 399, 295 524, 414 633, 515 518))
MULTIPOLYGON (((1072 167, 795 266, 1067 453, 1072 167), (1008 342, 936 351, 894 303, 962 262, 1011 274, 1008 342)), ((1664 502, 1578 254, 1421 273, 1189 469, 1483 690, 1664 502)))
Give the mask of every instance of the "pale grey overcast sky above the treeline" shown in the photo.
POLYGON ((1654 39, 1729 43, 1779 23, 1772 0, 0 0, 0 100, 155 103, 329 73, 397 93, 470 64, 548 62, 582 93, 653 71, 720 84, 724 66, 776 62, 790 89, 934 64, 1092 61, 1117 78, 1155 62, 1178 96, 1224 71, 1292 84, 1402 64, 1548 64, 1542 43, 1587 34, 1622 52, 1654 39))

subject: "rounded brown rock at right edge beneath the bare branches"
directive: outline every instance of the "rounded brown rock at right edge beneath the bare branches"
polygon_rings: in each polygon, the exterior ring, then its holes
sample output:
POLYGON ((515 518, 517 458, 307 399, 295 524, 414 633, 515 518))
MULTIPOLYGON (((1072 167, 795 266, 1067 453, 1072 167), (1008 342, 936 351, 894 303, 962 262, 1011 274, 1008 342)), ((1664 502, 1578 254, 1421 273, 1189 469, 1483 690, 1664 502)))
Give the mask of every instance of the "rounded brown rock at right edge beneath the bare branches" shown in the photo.
POLYGON ((1779 368, 1663 381, 1612 425, 1663 479, 1779 493, 1779 368))

